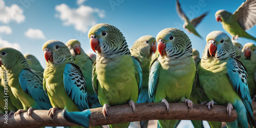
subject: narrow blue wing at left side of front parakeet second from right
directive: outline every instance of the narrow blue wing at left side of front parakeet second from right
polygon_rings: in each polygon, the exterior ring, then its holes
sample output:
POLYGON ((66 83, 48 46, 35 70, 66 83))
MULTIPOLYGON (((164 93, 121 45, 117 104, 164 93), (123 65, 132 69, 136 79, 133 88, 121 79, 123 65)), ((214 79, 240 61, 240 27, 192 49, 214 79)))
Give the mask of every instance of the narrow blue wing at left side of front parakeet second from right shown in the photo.
POLYGON ((159 77, 159 67, 160 67, 160 62, 158 61, 158 58, 156 58, 151 64, 150 78, 148 80, 148 93, 150 95, 150 99, 152 100, 152 102, 154 102, 155 100, 158 77, 159 77))

